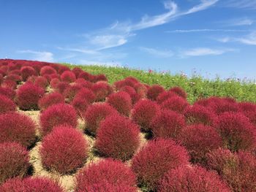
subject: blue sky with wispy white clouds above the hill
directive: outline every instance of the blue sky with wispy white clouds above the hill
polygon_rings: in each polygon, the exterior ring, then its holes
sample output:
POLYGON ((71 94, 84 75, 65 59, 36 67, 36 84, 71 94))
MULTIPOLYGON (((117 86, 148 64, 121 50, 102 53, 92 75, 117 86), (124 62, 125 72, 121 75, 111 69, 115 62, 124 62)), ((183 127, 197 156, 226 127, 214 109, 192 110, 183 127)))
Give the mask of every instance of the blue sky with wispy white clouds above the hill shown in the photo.
POLYGON ((0 0, 0 58, 256 74, 256 0, 0 0))

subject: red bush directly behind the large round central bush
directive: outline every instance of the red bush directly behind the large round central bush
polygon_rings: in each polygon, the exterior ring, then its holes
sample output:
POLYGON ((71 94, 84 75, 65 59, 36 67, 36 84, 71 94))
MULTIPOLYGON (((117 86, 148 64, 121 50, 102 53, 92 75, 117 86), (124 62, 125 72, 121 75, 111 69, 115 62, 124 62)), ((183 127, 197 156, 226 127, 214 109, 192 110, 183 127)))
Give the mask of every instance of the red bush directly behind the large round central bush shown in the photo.
POLYGON ((129 116, 132 110, 132 99, 129 94, 124 91, 112 93, 108 96, 107 102, 122 115, 129 116))

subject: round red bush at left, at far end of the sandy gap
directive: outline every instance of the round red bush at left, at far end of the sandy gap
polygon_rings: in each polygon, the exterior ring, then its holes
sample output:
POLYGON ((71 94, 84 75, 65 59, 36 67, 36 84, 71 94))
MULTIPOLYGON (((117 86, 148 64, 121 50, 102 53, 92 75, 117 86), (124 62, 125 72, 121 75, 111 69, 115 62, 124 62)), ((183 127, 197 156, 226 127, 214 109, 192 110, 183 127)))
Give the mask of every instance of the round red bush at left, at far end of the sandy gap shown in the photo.
POLYGON ((21 85, 17 91, 18 106, 21 110, 37 110, 38 101, 44 96, 45 91, 31 82, 21 85))

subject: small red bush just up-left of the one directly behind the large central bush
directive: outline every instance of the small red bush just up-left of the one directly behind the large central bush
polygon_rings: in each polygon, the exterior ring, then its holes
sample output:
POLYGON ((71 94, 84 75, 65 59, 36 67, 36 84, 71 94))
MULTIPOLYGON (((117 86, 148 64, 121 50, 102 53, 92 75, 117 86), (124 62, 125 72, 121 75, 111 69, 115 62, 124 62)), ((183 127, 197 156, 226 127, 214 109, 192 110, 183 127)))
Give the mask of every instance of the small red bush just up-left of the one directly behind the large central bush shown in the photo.
POLYGON ((96 96, 96 101, 104 101, 110 93, 113 93, 113 88, 107 82, 97 82, 92 85, 91 90, 96 96))

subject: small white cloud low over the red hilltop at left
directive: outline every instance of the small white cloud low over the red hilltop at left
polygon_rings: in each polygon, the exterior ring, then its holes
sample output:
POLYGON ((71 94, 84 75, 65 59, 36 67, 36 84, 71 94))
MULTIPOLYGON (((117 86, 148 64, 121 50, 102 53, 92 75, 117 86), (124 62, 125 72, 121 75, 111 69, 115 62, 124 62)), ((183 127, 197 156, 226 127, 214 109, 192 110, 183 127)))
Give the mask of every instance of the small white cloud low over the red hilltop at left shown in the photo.
POLYGON ((37 61, 53 62, 53 53, 35 50, 18 50, 17 53, 26 53, 32 55, 31 59, 37 61))

